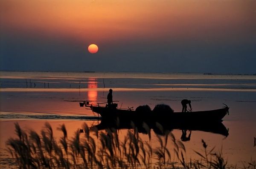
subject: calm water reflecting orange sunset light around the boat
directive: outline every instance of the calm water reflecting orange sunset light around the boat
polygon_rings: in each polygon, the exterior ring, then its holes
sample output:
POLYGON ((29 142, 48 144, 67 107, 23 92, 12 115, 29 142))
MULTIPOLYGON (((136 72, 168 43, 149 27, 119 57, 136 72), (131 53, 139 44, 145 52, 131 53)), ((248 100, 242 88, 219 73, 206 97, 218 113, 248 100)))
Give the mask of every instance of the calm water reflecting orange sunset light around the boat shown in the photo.
MULTIPOLYGON (((192 131, 190 140, 183 142, 186 158, 198 159, 194 150, 201 150, 204 139, 209 147, 216 146, 217 150, 222 147, 230 165, 242 166, 256 160, 256 76, 253 75, 0 72, 0 76, 1 149, 14 136, 14 122, 38 131, 46 120, 53 126, 65 123, 73 126, 69 127, 70 133, 84 122, 98 123, 97 115, 80 107, 78 102, 104 103, 111 88, 113 100, 119 100, 122 108, 136 109, 147 104, 153 109, 165 103, 180 112, 182 99, 192 101, 193 111, 219 109, 225 103, 230 107, 230 115, 224 117, 223 124, 229 135, 192 131)), ((181 130, 172 132, 180 140, 181 130)), ((154 140, 156 137, 152 137, 152 146, 154 140)))

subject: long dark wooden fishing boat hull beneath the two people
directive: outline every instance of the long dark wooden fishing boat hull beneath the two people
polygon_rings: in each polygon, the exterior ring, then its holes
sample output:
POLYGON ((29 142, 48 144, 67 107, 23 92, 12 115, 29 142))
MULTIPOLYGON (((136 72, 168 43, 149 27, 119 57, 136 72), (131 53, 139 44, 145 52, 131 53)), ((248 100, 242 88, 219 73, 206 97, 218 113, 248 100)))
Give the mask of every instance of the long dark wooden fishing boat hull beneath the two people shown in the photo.
MULTIPOLYGON (((117 108, 117 104, 112 106, 93 106, 92 104, 84 103, 86 107, 91 109, 102 117, 102 119, 112 121, 139 121, 139 122, 217 122, 227 115, 229 107, 225 105, 222 109, 198 111, 198 112, 170 112, 170 111, 135 111, 132 109, 117 108)), ((81 106, 81 105, 80 105, 81 106)))

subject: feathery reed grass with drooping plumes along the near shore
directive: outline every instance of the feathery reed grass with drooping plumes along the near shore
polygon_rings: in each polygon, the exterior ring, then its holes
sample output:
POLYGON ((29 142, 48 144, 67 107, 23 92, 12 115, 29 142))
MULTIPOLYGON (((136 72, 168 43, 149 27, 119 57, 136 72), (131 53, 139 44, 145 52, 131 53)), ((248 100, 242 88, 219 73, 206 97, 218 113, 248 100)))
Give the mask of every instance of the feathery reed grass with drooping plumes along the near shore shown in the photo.
MULTIPOLYGON (((151 139, 150 129, 148 138, 151 139)), ((161 129, 161 126, 159 126, 161 129)), ((150 143, 142 140, 137 129, 128 130, 124 139, 120 140, 116 130, 107 129, 106 132, 91 130, 86 123, 81 133, 76 131, 74 137, 67 139, 67 130, 60 126, 58 130, 63 136, 57 141, 53 136, 52 127, 45 123, 41 135, 35 131, 25 132, 18 123, 15 123, 17 138, 9 138, 7 149, 16 159, 20 169, 63 168, 63 169, 226 169, 227 161, 221 152, 214 148, 207 149, 202 140, 203 152, 196 152, 201 158, 199 161, 184 158, 186 148, 176 140, 172 132, 165 132, 164 136, 157 135, 158 146, 154 149, 150 143), (167 148, 167 142, 173 143, 173 149, 167 148), (171 157, 178 161, 174 162, 171 157), (157 162, 152 162, 156 158, 157 162)), ((244 165, 246 169, 256 169, 256 161, 244 165)))

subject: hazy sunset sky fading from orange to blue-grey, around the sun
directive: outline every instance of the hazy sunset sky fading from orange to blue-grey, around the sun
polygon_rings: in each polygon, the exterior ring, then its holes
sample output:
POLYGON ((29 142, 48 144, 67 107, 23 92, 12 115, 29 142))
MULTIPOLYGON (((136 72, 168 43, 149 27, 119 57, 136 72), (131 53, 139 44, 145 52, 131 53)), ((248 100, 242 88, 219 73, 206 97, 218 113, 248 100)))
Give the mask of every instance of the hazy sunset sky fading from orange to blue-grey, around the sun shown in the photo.
POLYGON ((0 0, 4 70, 255 74, 256 0, 0 0))

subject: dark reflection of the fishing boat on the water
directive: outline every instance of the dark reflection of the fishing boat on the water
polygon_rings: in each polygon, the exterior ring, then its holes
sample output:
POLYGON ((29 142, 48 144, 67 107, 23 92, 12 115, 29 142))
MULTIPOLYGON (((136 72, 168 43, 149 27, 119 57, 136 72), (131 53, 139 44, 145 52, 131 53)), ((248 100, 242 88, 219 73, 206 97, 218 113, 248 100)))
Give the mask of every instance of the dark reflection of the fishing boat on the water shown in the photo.
POLYGON ((175 122, 161 122, 161 123, 139 123, 126 121, 125 123, 113 123, 108 120, 102 120, 101 123, 92 127, 92 129, 104 130, 111 129, 134 129, 137 128, 139 133, 148 134, 151 130, 157 135, 166 135, 174 129, 180 129, 182 131, 181 140, 189 141, 192 131, 210 132, 227 137, 229 135, 227 128, 221 122, 202 122, 202 123, 175 123, 175 122))

